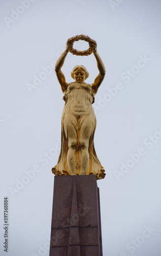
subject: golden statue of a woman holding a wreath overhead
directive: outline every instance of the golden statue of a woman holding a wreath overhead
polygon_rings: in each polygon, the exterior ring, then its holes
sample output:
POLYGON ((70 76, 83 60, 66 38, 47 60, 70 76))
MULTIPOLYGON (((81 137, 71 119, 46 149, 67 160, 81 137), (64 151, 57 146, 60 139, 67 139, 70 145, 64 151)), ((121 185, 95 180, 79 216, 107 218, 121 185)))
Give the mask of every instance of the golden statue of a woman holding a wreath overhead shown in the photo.
POLYGON ((98 160, 94 148, 96 116, 92 103, 103 81, 105 68, 97 53, 96 41, 85 35, 69 38, 66 50, 57 60, 55 71, 64 94, 65 105, 62 113, 61 152, 57 165, 52 168, 52 173, 55 175, 95 174, 97 180, 103 179, 104 168, 98 160), (73 42, 77 40, 89 42, 89 49, 86 51, 73 49, 73 42), (71 77, 75 81, 66 82, 61 68, 69 51, 82 56, 93 52, 99 70, 94 83, 85 83, 89 73, 82 65, 75 66, 71 72, 71 77))

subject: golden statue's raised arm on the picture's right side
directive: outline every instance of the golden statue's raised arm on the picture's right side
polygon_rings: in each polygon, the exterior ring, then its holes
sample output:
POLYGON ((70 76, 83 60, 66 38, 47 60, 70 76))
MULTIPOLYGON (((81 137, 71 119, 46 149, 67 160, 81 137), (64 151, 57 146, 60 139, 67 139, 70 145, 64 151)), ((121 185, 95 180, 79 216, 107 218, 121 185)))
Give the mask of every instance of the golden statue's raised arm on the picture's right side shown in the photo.
POLYGON ((91 84, 93 92, 96 94, 101 82, 104 79, 105 67, 104 67, 104 64, 103 64, 103 62, 102 62, 102 60, 101 60, 101 58, 100 58, 100 56, 97 52, 97 45, 93 45, 93 48, 94 48, 93 54, 96 58, 97 67, 98 67, 98 70, 99 70, 98 76, 95 78, 94 83, 91 84))

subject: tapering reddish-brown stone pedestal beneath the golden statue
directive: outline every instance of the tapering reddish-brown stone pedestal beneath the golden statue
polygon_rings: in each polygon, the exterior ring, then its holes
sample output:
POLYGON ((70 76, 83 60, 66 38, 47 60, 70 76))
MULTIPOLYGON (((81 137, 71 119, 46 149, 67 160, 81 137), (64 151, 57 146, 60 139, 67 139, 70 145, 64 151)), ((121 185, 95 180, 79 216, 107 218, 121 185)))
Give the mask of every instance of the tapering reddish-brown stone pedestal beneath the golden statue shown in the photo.
POLYGON ((49 256, 102 256, 95 175, 55 176, 49 256))

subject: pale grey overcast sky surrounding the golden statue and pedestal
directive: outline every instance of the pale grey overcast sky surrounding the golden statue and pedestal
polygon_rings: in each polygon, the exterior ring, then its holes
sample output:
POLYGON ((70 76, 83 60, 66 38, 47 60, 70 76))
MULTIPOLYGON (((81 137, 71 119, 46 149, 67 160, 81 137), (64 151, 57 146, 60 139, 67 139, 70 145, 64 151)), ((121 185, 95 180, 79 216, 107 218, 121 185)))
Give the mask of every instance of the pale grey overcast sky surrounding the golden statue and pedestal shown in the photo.
MULTIPOLYGON (((49 255, 51 168, 64 107, 53 69, 77 34, 96 40, 106 69, 93 104, 95 149, 106 172, 97 181, 103 255, 161 255, 160 8, 158 0, 1 1, 1 255, 49 255)), ((98 75, 93 54, 68 54, 67 82, 75 65, 86 66, 88 83, 98 75)))

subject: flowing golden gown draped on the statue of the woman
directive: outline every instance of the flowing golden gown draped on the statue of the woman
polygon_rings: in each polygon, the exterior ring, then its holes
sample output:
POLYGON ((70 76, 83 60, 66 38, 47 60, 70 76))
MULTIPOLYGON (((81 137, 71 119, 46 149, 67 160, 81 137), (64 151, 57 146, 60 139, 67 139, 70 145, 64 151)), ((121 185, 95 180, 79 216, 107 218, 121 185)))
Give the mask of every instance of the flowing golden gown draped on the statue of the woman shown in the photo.
POLYGON ((61 152, 58 163, 52 168, 52 173, 58 175, 70 175, 70 168, 67 161, 67 153, 70 140, 72 138, 77 141, 76 150, 76 169, 75 175, 80 173, 80 156, 81 143, 84 138, 88 138, 88 154, 89 164, 86 170, 86 175, 95 174, 96 179, 103 179, 105 176, 104 168, 95 152, 94 148, 94 133, 96 129, 96 116, 92 103, 94 96, 92 94, 90 84, 85 82, 71 82, 68 83, 67 90, 64 92, 63 99, 65 106, 62 113, 62 131, 61 131, 61 152))

